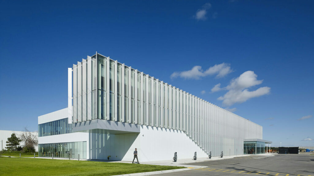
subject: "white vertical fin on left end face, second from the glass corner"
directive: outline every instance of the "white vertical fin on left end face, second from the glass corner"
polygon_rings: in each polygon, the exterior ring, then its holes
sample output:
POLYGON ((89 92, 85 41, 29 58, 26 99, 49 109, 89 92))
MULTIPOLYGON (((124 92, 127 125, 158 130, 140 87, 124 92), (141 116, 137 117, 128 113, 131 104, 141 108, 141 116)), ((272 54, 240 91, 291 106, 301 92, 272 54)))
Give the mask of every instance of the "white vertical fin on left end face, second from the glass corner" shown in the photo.
POLYGON ((82 59, 82 121, 87 120, 87 63, 82 59))

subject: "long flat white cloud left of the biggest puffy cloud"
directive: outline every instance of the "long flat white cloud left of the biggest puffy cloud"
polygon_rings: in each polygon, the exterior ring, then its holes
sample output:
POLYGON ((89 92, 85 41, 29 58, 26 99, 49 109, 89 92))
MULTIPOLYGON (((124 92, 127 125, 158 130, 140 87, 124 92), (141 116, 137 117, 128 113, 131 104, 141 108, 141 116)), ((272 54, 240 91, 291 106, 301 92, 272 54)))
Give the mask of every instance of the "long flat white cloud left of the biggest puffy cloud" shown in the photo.
POLYGON ((228 63, 215 64, 212 67, 209 67, 206 71, 202 70, 201 66, 194 66, 191 70, 174 72, 170 75, 171 79, 181 77, 185 79, 195 79, 198 80, 201 77, 205 77, 208 75, 216 74, 216 78, 221 78, 231 73, 233 70, 228 63))

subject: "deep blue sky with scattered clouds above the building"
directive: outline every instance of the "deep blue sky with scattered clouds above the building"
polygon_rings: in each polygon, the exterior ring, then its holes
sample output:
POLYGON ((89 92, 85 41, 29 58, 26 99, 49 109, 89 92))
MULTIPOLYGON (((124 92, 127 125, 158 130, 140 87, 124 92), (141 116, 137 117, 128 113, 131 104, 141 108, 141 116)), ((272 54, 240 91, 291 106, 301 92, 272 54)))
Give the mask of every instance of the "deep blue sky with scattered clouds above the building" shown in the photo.
POLYGON ((272 146, 314 146, 313 1, 0 2, 0 129, 67 107, 67 68, 97 51, 262 125, 272 146))

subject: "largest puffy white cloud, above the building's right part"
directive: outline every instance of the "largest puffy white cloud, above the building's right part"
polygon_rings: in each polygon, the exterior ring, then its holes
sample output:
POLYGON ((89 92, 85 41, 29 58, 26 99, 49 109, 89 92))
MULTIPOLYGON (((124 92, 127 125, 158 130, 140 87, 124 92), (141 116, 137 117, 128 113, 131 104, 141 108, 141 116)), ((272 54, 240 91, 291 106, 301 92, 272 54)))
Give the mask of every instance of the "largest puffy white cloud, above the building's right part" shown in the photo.
POLYGON ((262 84, 262 82, 263 80, 257 80, 257 75, 253 71, 246 71, 230 81, 230 84, 225 87, 228 92, 224 96, 220 96, 218 100, 222 100, 225 106, 231 106, 235 103, 243 103, 251 98, 268 94, 270 87, 260 87, 255 91, 248 90, 252 86, 262 84))

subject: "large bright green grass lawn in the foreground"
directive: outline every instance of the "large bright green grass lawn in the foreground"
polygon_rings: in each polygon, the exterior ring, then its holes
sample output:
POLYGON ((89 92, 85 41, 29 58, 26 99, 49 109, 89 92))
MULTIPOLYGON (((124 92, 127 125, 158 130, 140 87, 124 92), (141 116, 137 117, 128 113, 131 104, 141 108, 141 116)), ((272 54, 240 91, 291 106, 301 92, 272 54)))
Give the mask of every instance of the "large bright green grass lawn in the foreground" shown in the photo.
POLYGON ((185 167, 113 162, 0 157, 0 175, 120 175, 185 167))

